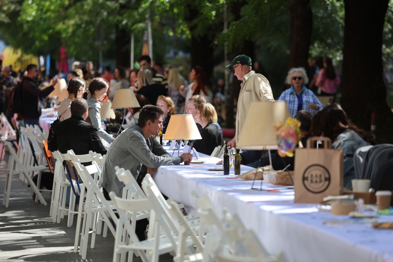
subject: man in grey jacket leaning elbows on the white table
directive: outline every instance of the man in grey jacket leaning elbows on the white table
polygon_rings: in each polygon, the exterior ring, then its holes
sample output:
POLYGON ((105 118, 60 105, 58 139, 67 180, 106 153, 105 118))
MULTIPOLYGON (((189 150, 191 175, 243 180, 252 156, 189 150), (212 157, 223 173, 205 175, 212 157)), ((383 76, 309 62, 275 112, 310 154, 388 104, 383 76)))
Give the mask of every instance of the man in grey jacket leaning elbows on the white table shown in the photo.
POLYGON ((115 166, 130 170, 140 184, 146 173, 153 175, 159 166, 191 161, 190 153, 171 157, 154 138, 153 135, 158 135, 162 129, 163 114, 159 107, 145 105, 140 111, 138 124, 125 129, 110 144, 102 170, 104 194, 113 191, 118 196, 122 195, 124 183, 116 177, 115 166))

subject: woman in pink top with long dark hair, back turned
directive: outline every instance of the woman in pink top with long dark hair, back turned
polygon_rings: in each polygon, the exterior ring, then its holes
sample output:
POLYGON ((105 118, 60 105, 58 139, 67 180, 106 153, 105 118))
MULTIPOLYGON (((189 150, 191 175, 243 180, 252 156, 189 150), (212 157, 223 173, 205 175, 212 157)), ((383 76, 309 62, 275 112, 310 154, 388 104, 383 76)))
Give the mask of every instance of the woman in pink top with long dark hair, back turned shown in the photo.
POLYGON ((340 83, 341 80, 334 70, 332 59, 326 57, 323 59, 323 68, 321 68, 315 82, 316 86, 321 87, 321 96, 335 96, 340 83))

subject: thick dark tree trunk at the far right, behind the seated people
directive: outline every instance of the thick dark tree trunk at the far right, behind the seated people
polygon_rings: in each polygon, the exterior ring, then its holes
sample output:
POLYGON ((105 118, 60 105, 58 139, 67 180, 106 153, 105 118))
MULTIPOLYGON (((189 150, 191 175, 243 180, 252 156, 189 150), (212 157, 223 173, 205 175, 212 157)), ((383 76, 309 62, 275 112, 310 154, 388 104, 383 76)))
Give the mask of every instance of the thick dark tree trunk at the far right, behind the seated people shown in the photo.
POLYGON ((389 0, 372 6, 344 0, 342 107, 358 127, 370 130, 376 114, 376 142, 393 143, 393 113, 382 80, 382 32, 389 0))

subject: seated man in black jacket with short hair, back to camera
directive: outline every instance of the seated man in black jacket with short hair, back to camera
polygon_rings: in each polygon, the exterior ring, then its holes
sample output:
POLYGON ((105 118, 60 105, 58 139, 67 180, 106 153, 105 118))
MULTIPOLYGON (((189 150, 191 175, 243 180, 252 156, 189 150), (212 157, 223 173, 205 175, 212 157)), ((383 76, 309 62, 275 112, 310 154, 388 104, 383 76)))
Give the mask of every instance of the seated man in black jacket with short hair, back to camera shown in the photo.
POLYGON ((49 149, 57 149, 63 154, 72 149, 77 155, 88 154, 90 150, 105 155, 107 150, 98 137, 97 128, 84 122, 87 115, 87 101, 75 98, 71 103, 71 117, 53 127, 54 136, 48 140, 49 149))

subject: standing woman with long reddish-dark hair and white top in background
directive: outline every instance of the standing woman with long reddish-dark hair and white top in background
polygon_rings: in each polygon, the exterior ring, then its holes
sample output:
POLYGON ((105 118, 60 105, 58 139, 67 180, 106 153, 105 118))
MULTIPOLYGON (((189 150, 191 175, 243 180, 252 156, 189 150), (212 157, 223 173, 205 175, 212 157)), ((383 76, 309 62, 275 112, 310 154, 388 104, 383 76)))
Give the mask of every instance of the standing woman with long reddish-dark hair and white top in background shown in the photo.
MULTIPOLYGON (((210 90, 210 83, 205 70, 200 66, 195 66, 190 72, 190 83, 187 87, 181 86, 179 91, 185 97, 185 105, 191 96, 204 96, 207 103, 213 102, 213 93, 210 90)), ((187 106, 186 106, 187 107, 187 106)))

